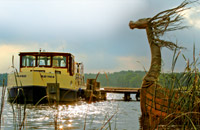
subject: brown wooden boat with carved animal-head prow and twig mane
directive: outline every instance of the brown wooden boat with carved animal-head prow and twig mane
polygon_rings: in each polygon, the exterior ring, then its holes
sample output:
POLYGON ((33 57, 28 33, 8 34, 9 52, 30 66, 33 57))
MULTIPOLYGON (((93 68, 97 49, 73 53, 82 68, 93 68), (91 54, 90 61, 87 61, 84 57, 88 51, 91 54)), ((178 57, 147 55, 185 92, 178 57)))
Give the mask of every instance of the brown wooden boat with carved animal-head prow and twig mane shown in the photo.
MULTIPOLYGON (((142 112, 141 125, 144 126, 143 129, 155 130, 158 125, 170 124, 173 119, 180 117, 180 114, 183 113, 183 111, 181 111, 181 102, 183 102, 182 106, 185 103, 183 93, 174 89, 162 87, 158 83, 158 79, 161 72, 161 48, 167 47, 175 51, 181 49, 177 44, 161 39, 161 36, 167 31, 183 28, 180 27, 179 24, 176 25, 176 23, 182 20, 182 16, 179 13, 186 9, 185 6, 187 4, 189 3, 184 1, 179 6, 162 11, 152 18, 143 18, 138 21, 129 22, 130 29, 146 30, 151 50, 151 65, 149 71, 143 78, 140 92, 142 112), (171 24, 173 24, 172 27, 170 26, 171 24)), ((196 97, 194 97, 194 99, 196 99, 196 97)), ((189 103, 191 103, 191 106, 196 106, 191 110, 191 113, 199 112, 200 107, 193 104, 194 101, 192 98, 190 100, 189 103)), ((197 122, 200 118, 197 115, 193 115, 193 121, 195 119, 197 119, 197 122)), ((181 120, 177 124, 180 125, 183 124, 183 122, 184 121, 181 120)), ((198 124, 198 122, 196 124, 198 124)))

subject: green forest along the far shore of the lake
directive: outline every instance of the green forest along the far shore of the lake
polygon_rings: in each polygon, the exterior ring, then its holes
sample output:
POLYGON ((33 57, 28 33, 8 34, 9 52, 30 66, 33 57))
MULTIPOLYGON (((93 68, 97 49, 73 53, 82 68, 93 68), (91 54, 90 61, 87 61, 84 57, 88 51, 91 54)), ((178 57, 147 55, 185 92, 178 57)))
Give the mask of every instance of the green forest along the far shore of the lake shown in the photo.
MULTIPOLYGON (((142 84, 142 79, 145 76, 145 71, 120 71, 114 73, 100 73, 98 75, 97 81, 100 82, 101 87, 110 86, 110 87, 130 87, 130 88, 140 88, 142 84)), ((159 77, 159 83, 163 87, 170 87, 172 85, 177 88, 180 84, 183 86, 188 86, 191 79, 185 79, 186 73, 161 73, 159 77)), ((194 78, 194 73, 190 74, 191 78, 194 78)), ((85 74, 85 83, 87 79, 95 79, 97 74, 89 73, 85 74)), ((3 79, 5 80, 5 85, 7 85, 7 74, 0 74, 0 86, 3 85, 3 79)), ((200 84, 200 83, 199 83, 200 84)))

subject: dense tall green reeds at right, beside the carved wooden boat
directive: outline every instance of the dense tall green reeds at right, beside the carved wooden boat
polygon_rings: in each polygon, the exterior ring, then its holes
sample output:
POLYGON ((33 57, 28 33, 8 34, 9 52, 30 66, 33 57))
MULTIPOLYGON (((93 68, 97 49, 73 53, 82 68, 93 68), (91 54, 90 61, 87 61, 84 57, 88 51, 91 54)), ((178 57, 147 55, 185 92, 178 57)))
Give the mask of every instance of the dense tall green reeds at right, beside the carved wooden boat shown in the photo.
MULTIPOLYGON (((195 46, 193 49, 193 61, 186 61, 185 70, 175 73, 174 68, 180 52, 174 52, 172 73, 163 74, 160 82, 163 87, 168 88, 170 97, 168 108, 171 108, 168 116, 164 119, 165 127, 178 126, 181 129, 200 129, 200 65, 195 57, 195 46)), ((163 123, 163 122, 162 122, 163 123)))

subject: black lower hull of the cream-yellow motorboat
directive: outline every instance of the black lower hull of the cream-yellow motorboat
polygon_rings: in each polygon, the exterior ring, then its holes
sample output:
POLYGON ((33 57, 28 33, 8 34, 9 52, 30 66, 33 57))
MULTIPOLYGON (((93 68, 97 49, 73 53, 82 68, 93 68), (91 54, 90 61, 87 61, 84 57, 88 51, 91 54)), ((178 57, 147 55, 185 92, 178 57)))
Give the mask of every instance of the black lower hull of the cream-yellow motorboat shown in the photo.
MULTIPOLYGON (((8 101, 16 103, 47 103, 46 86, 22 86, 8 89, 8 101)), ((78 90, 59 88, 59 102, 75 102, 78 100, 78 90)))

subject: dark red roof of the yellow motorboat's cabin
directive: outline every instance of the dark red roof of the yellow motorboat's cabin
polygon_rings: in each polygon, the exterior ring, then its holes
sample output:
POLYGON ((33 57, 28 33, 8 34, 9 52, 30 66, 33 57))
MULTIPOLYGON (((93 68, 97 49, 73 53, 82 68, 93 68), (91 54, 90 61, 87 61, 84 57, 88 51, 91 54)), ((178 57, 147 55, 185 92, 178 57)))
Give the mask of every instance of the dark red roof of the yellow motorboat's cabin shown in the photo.
POLYGON ((48 55, 48 56, 73 56, 71 53, 64 52, 20 52, 20 56, 22 55, 48 55))

